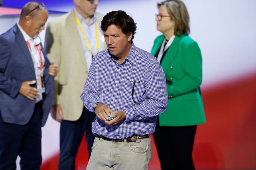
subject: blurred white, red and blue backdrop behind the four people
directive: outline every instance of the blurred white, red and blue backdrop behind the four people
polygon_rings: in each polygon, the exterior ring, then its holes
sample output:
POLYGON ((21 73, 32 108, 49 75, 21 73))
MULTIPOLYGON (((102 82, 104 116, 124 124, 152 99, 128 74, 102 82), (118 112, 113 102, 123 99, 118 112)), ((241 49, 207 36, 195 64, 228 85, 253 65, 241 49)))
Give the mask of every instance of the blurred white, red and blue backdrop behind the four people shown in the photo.
MULTIPOLYGON (((18 21, 20 8, 28 1, 3 0, 0 34, 18 21)), ((72 0, 42 2, 50 10, 48 21, 74 8, 72 0)), ((150 52, 154 39, 161 34, 156 30, 157 2, 100 0, 97 12, 106 14, 112 10, 124 10, 130 14, 137 23, 134 44, 150 52)), ((207 122, 198 125, 196 132, 193 150, 196 169, 256 170, 256 1, 183 2, 190 14, 190 36, 197 41, 203 58, 201 88, 207 122)), ((43 42, 44 35, 42 31, 43 42)), ((59 128, 60 124, 51 116, 42 128, 41 170, 57 169, 59 128)), ((88 153, 83 141, 76 168, 85 169, 87 162, 88 153)), ((160 170, 153 137, 149 170, 160 170)))

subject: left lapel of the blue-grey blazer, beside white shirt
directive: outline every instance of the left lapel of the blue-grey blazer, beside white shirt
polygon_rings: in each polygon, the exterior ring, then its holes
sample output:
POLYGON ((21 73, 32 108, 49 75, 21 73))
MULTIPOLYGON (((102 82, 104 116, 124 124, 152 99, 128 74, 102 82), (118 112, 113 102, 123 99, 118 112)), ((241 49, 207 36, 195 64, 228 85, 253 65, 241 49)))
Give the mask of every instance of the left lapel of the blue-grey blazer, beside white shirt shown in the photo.
POLYGON ((34 68, 34 63, 30 54, 30 51, 28 49, 28 45, 25 42, 25 39, 20 31, 20 29, 18 28, 18 26, 16 25, 16 28, 14 29, 14 32, 16 34, 16 39, 18 44, 20 45, 20 48, 22 49, 22 51, 24 52, 24 56, 27 59, 29 65, 31 66, 33 72, 36 74, 35 72, 35 68, 34 68))

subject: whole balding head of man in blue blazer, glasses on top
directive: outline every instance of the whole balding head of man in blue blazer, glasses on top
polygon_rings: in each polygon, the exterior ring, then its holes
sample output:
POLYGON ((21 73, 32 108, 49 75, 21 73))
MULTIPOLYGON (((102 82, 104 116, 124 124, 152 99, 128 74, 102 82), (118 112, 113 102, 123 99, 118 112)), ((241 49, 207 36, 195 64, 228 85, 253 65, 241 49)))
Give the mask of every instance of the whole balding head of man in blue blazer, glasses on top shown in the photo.
POLYGON ((44 3, 31 1, 22 8, 19 24, 30 37, 35 38, 44 29, 47 19, 44 3))

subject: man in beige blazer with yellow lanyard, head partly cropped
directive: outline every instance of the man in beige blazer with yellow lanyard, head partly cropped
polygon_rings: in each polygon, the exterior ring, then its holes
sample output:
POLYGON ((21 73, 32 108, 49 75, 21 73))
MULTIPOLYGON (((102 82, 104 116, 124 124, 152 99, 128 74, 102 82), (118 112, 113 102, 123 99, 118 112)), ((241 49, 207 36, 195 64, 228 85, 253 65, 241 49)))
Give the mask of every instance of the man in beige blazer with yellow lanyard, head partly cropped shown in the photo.
POLYGON ((73 0, 75 8, 50 21, 46 28, 45 49, 59 66, 54 79, 52 117, 60 124, 60 170, 74 170, 78 147, 86 131, 91 153, 95 114, 80 100, 92 57, 106 49, 100 30, 102 14, 96 13, 98 0, 73 0))

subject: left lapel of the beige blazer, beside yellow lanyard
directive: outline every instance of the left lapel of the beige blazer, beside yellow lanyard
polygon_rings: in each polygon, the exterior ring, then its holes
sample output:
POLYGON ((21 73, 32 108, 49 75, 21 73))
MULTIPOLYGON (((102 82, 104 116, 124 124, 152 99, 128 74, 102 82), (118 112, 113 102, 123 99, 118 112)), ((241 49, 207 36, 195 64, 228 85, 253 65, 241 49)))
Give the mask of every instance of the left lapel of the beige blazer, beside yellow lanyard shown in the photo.
POLYGON ((75 17, 74 17, 74 10, 72 10, 72 12, 70 12, 70 14, 67 17, 66 28, 70 31, 69 35, 72 36, 72 38, 70 39, 72 42, 70 42, 70 44, 76 45, 75 49, 76 49, 76 53, 78 53, 77 56, 80 57, 82 63, 87 68, 86 61, 84 58, 84 49, 81 43, 80 34, 79 34, 75 17))

